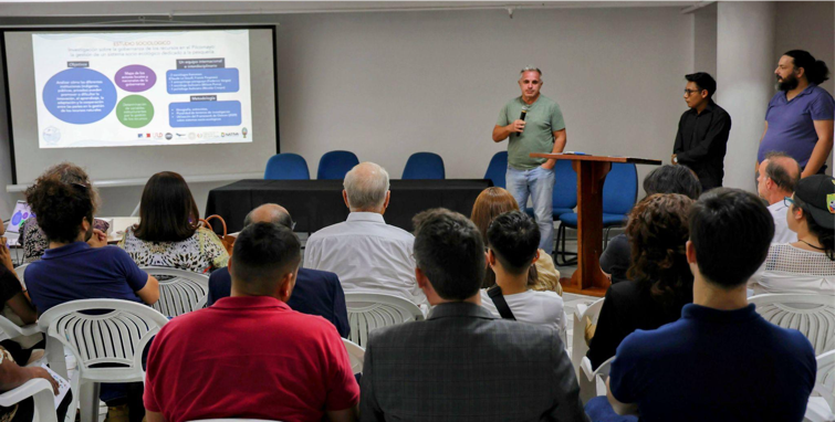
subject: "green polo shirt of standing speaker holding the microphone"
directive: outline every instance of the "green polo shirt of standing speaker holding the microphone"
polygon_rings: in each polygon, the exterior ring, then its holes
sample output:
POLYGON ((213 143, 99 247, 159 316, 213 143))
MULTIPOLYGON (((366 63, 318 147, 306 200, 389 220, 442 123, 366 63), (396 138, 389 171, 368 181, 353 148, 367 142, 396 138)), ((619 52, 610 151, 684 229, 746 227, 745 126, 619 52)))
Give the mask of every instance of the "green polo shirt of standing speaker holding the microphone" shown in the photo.
POLYGON ((525 129, 521 134, 510 134, 508 145, 508 163, 518 170, 531 170, 542 166, 544 158, 531 158, 531 152, 551 152, 554 150, 554 131, 565 129, 563 113, 553 99, 540 94, 530 106, 522 97, 511 99, 499 113, 497 126, 508 126, 528 107, 525 129))

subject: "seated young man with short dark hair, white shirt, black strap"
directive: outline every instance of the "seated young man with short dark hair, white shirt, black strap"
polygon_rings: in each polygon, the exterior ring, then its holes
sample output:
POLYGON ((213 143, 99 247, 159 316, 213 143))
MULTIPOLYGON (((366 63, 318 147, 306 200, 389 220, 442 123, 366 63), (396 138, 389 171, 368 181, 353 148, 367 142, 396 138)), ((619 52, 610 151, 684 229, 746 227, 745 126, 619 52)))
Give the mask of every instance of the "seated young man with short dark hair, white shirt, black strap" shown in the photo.
POLYGON ((487 263, 497 285, 481 291, 481 306, 495 317, 552 327, 564 340, 563 298, 555 292, 532 291, 528 284, 528 272, 540 254, 536 222, 521 211, 505 212, 490 223, 487 243, 487 263), (502 315, 501 309, 510 314, 502 315))

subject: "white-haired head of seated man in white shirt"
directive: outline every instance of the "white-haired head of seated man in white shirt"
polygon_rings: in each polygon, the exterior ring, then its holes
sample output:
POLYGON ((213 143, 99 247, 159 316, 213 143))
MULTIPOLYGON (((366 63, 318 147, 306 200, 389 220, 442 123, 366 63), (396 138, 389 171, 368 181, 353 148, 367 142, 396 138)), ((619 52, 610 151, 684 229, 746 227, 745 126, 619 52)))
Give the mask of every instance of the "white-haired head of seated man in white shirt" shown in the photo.
POLYGON ((386 202, 388 172, 374 162, 361 162, 345 175, 343 187, 352 210, 379 210, 386 202))

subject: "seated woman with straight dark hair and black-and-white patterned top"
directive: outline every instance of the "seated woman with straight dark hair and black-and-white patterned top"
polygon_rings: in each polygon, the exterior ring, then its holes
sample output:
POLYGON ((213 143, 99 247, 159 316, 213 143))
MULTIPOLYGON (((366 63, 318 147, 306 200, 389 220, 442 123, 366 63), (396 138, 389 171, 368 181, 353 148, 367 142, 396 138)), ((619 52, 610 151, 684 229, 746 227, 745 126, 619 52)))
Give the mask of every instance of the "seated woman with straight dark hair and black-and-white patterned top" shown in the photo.
POLYGON ((229 253, 215 232, 198 225, 199 219, 182 176, 158 172, 142 193, 139 224, 125 230, 118 246, 140 266, 170 266, 195 273, 227 266, 229 253))

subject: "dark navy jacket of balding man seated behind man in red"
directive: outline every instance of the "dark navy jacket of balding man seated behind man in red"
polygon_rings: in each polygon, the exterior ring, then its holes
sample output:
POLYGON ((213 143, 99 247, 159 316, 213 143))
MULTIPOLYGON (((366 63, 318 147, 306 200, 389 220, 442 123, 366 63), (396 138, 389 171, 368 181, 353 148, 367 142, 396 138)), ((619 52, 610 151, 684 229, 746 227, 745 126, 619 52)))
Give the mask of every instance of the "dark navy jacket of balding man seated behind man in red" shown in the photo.
MULTIPOLYGON (((209 276, 209 297, 206 306, 228 297, 232 291, 229 268, 218 268, 209 276)), ((348 312, 345 307, 345 292, 340 277, 327 271, 299 268, 293 294, 288 300, 291 309, 307 315, 319 315, 331 321, 347 338, 351 334, 348 312)))

